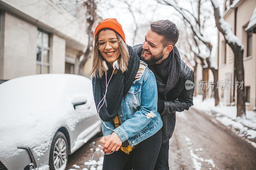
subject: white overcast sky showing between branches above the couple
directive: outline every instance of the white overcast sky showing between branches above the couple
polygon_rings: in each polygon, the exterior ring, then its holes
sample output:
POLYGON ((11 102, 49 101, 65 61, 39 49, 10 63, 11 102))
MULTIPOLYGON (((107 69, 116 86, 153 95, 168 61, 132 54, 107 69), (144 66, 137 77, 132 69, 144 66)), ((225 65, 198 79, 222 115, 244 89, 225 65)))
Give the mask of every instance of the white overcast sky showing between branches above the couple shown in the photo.
MULTIPOLYGON (((183 8, 191 10, 191 4, 188 3, 188 1, 189 0, 180 0, 178 4, 183 8)), ((205 0, 202 0, 202 2, 204 1, 205 0)), ((150 23, 153 21, 169 19, 174 22, 179 29, 184 28, 184 23, 180 14, 171 6, 157 4, 155 0, 127 0, 127 2, 130 4, 130 7, 134 12, 136 21, 140 25, 145 25, 139 30, 139 35, 136 38, 135 44, 142 43, 144 41, 144 36, 149 29, 150 23)), ((212 7, 210 1, 206 3, 209 4, 209 8, 212 7)), ((127 4, 123 3, 121 0, 108 0, 98 5, 98 14, 103 19, 116 18, 123 26, 126 43, 128 45, 132 45, 135 24, 134 19, 128 10, 127 4), (109 8, 110 5, 113 5, 113 7, 109 8)), ((217 43, 217 29, 214 28, 214 22, 214 19, 209 19, 208 23, 206 23, 209 28, 205 33, 211 39, 213 45, 217 43)))

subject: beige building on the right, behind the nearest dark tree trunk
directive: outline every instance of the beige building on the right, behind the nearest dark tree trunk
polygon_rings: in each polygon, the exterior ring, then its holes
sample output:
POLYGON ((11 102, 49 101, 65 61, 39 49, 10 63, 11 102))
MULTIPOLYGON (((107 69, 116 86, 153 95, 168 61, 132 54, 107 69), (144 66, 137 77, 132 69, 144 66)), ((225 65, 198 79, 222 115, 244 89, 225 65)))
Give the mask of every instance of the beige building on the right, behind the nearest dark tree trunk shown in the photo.
MULTIPOLYGON (((232 26, 233 33, 244 45, 244 86, 246 109, 256 105, 256 1, 225 0, 223 17, 232 26), (250 21, 251 20, 251 21, 250 21)), ((234 54, 226 44, 223 35, 218 35, 219 80, 225 81, 219 89, 220 100, 227 105, 236 104, 236 78, 234 75, 234 54), (233 85, 234 84, 234 85, 233 85), (228 87, 229 85, 229 87, 228 87)), ((238 88, 239 88, 238 84, 238 88)))

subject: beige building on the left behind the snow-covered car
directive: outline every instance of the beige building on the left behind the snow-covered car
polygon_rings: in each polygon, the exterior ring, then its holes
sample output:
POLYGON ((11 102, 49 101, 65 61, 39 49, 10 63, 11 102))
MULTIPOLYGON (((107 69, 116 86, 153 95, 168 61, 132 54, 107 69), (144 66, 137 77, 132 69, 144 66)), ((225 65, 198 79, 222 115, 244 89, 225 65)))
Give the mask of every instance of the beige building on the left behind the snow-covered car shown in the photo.
POLYGON ((0 1, 1 80, 78 73, 79 57, 87 45, 85 9, 76 1, 61 2, 0 1))

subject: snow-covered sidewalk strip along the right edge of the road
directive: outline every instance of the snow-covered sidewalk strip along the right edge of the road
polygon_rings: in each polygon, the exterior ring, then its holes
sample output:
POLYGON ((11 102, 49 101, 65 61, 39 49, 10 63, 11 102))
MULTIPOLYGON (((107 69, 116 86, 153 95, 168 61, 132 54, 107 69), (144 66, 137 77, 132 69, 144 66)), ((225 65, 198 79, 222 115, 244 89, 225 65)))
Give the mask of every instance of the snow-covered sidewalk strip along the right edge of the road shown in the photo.
POLYGON ((202 101, 202 95, 194 97, 193 103, 193 108, 214 117, 256 148, 256 113, 254 111, 246 110, 246 116, 236 117, 236 106, 224 106, 221 102, 218 106, 214 106, 213 98, 202 101))

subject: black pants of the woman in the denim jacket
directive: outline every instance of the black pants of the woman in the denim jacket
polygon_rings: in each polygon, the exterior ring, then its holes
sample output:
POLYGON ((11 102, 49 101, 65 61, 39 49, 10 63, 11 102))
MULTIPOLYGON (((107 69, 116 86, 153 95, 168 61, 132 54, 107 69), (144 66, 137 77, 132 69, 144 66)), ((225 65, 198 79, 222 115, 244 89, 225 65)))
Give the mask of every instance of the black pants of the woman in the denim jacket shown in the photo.
POLYGON ((153 170, 161 147, 162 129, 141 141, 138 146, 125 154, 121 149, 104 155, 103 170, 153 170))

